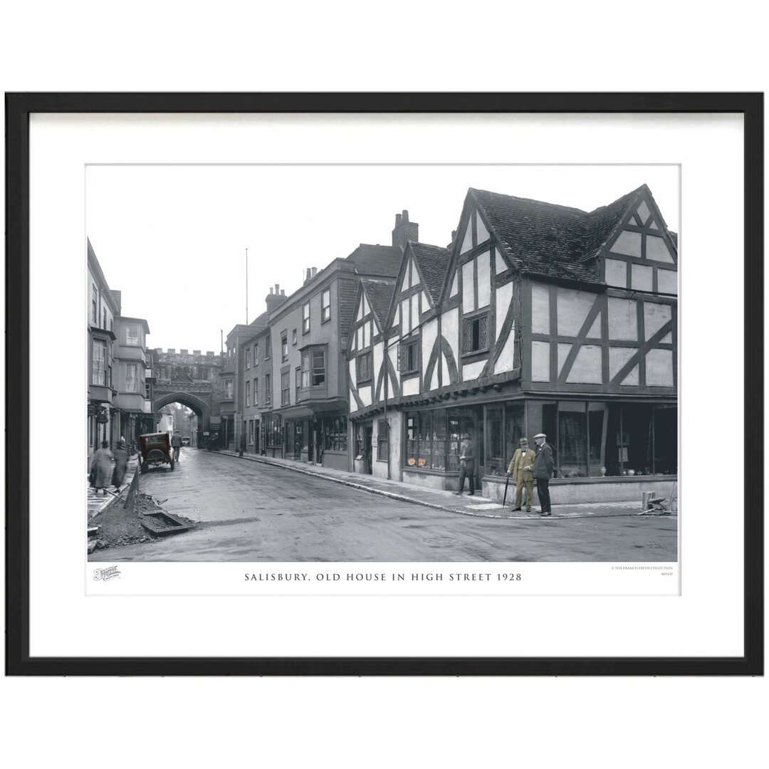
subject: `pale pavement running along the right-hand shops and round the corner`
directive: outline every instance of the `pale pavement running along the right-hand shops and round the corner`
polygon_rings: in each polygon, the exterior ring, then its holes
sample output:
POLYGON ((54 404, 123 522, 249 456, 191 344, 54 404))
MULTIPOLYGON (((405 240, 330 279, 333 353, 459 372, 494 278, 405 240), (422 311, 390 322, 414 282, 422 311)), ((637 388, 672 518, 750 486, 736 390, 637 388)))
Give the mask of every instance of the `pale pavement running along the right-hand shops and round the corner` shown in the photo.
MULTIPOLYGON (((531 521, 543 518, 538 513, 538 508, 532 508, 530 513, 525 511, 513 511, 511 502, 502 508, 501 503, 481 496, 478 491, 473 496, 465 493, 461 496, 454 491, 443 489, 424 488, 402 481, 388 481, 376 478, 373 475, 351 473, 334 468, 325 468, 318 464, 307 464, 293 459, 278 459, 262 457, 256 454, 243 454, 242 457, 235 451, 218 451, 218 454, 235 458, 238 461, 261 462, 277 467, 286 468, 297 473, 325 478, 338 484, 343 484, 371 494, 379 494, 402 502, 421 504, 426 508, 456 513, 460 515, 472 515, 478 518, 509 518, 511 520, 531 521)), ((514 492, 514 488, 513 488, 514 492)), ((641 514, 641 500, 638 502, 582 502, 578 504, 554 504, 551 516, 547 518, 606 518, 618 515, 641 514)), ((677 515, 672 512, 671 515, 677 515)))

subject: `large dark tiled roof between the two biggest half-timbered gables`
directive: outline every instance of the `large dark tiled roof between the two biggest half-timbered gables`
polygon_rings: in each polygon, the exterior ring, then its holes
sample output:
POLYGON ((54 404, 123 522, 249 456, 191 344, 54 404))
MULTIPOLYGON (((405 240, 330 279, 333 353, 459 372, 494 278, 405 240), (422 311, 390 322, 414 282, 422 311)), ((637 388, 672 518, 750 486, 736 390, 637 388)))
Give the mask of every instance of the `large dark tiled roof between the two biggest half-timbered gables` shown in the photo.
POLYGON ((470 194, 524 273, 601 283, 595 256, 646 185, 588 213, 471 188, 470 194))

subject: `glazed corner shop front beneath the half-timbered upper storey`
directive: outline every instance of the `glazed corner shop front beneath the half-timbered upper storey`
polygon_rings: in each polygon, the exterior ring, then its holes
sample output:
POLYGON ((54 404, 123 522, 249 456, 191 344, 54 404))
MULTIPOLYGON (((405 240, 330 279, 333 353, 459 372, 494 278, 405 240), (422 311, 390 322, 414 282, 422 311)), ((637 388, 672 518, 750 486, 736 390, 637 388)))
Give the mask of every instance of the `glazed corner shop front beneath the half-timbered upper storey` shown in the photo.
POLYGON ((403 412, 403 480, 456 489, 461 436, 474 444, 482 493, 501 500, 521 437, 544 433, 553 448, 553 501, 638 500, 670 491, 677 477, 674 399, 591 401, 521 395, 504 401, 403 412))

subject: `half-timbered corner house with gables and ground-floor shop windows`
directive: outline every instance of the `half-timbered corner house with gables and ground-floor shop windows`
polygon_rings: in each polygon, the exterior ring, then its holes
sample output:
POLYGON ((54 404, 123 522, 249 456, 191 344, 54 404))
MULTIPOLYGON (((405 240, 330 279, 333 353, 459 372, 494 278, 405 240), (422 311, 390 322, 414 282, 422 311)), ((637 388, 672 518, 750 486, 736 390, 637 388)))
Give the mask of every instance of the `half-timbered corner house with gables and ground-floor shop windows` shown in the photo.
POLYGON ((471 188, 448 248, 408 242, 394 284, 361 283, 355 469, 456 488, 468 433, 501 498, 519 439, 542 432, 554 501, 674 481, 677 285, 677 236, 646 185, 589 213, 471 188))

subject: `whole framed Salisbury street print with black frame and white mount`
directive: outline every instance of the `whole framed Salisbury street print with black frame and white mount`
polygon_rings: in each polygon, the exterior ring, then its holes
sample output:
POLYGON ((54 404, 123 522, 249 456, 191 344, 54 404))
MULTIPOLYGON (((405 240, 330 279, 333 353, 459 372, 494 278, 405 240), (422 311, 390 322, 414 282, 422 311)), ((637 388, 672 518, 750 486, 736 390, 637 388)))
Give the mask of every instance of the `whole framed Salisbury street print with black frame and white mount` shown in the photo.
POLYGON ((6 95, 8 673, 763 674, 763 130, 6 95))

